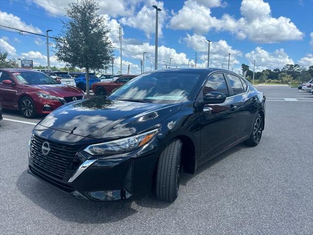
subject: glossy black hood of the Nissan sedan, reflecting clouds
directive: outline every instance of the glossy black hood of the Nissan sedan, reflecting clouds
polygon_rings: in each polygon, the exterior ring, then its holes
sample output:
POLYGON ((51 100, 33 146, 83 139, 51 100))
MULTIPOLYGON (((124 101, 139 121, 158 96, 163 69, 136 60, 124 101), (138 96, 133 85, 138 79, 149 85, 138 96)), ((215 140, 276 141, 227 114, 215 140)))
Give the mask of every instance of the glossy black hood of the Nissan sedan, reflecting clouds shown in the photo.
POLYGON ((99 96, 64 105, 39 125, 81 137, 112 140, 158 128, 180 107, 180 103, 139 103, 99 96))

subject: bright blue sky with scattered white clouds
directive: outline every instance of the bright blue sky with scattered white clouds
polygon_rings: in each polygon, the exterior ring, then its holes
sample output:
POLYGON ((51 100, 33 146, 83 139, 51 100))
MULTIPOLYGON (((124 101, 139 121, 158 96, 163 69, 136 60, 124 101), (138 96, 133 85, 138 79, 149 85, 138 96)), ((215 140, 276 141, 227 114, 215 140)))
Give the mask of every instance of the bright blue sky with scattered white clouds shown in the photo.
MULTIPOLYGON (((70 0, 0 0, 0 24, 40 34, 52 29, 55 36, 66 20, 64 8, 70 0)), ((209 39, 210 66, 224 68, 231 53, 230 68, 238 71, 242 63, 256 70, 282 68, 285 64, 313 65, 313 0, 102 0, 103 14, 111 28, 110 39, 119 47, 118 26, 123 29, 123 72, 140 71, 142 53, 145 70, 154 68, 155 10, 159 13, 158 68, 169 65, 186 67, 188 61, 206 67, 209 39), (131 51, 131 52, 128 52, 131 51)), ((20 35, 0 27, 0 50, 10 58, 33 59, 35 65, 46 65, 45 38, 20 35)), ((51 65, 64 66, 53 56, 51 65)), ((114 71, 119 70, 119 50, 115 51, 114 71)))

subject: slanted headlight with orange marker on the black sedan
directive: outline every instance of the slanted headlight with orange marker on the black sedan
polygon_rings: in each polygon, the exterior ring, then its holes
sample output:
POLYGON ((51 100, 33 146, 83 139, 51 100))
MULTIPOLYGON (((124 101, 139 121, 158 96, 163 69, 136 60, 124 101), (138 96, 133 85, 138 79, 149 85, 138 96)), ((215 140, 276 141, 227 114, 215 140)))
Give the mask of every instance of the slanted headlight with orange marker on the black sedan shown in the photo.
POLYGON ((139 135, 123 138, 115 141, 108 141, 103 143, 97 143, 89 145, 84 149, 85 152, 91 155, 106 155, 114 152, 131 151, 137 147, 140 147, 156 135, 158 129, 148 131, 139 135))

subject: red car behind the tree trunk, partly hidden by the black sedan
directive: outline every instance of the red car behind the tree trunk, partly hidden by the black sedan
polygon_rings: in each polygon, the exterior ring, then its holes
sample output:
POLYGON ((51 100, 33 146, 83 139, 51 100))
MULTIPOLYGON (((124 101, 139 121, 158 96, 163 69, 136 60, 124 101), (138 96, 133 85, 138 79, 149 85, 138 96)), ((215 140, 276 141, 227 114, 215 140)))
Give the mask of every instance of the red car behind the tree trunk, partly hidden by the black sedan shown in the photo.
POLYGON ((93 83, 91 89, 96 95, 110 94, 114 89, 124 85, 129 80, 133 79, 138 75, 123 75, 111 82, 96 82, 93 83))

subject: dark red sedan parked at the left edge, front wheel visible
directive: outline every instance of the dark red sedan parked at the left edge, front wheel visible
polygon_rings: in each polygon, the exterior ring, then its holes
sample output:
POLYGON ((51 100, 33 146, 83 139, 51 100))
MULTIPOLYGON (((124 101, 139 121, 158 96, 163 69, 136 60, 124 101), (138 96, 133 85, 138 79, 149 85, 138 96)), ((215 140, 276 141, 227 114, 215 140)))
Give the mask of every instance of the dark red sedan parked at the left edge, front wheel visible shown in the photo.
POLYGON ((49 114, 67 102, 83 98, 81 90, 60 84, 43 72, 0 69, 2 107, 19 110, 25 118, 49 114))

